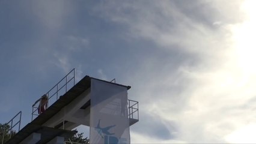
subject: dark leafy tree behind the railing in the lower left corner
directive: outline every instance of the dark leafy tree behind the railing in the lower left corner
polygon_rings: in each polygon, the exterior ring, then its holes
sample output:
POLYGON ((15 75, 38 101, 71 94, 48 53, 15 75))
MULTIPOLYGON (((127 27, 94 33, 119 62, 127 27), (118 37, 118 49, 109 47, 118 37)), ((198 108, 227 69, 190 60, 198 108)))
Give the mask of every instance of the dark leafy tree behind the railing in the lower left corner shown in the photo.
POLYGON ((10 125, 0 124, 0 143, 7 142, 15 134, 15 131, 10 131, 10 125))

